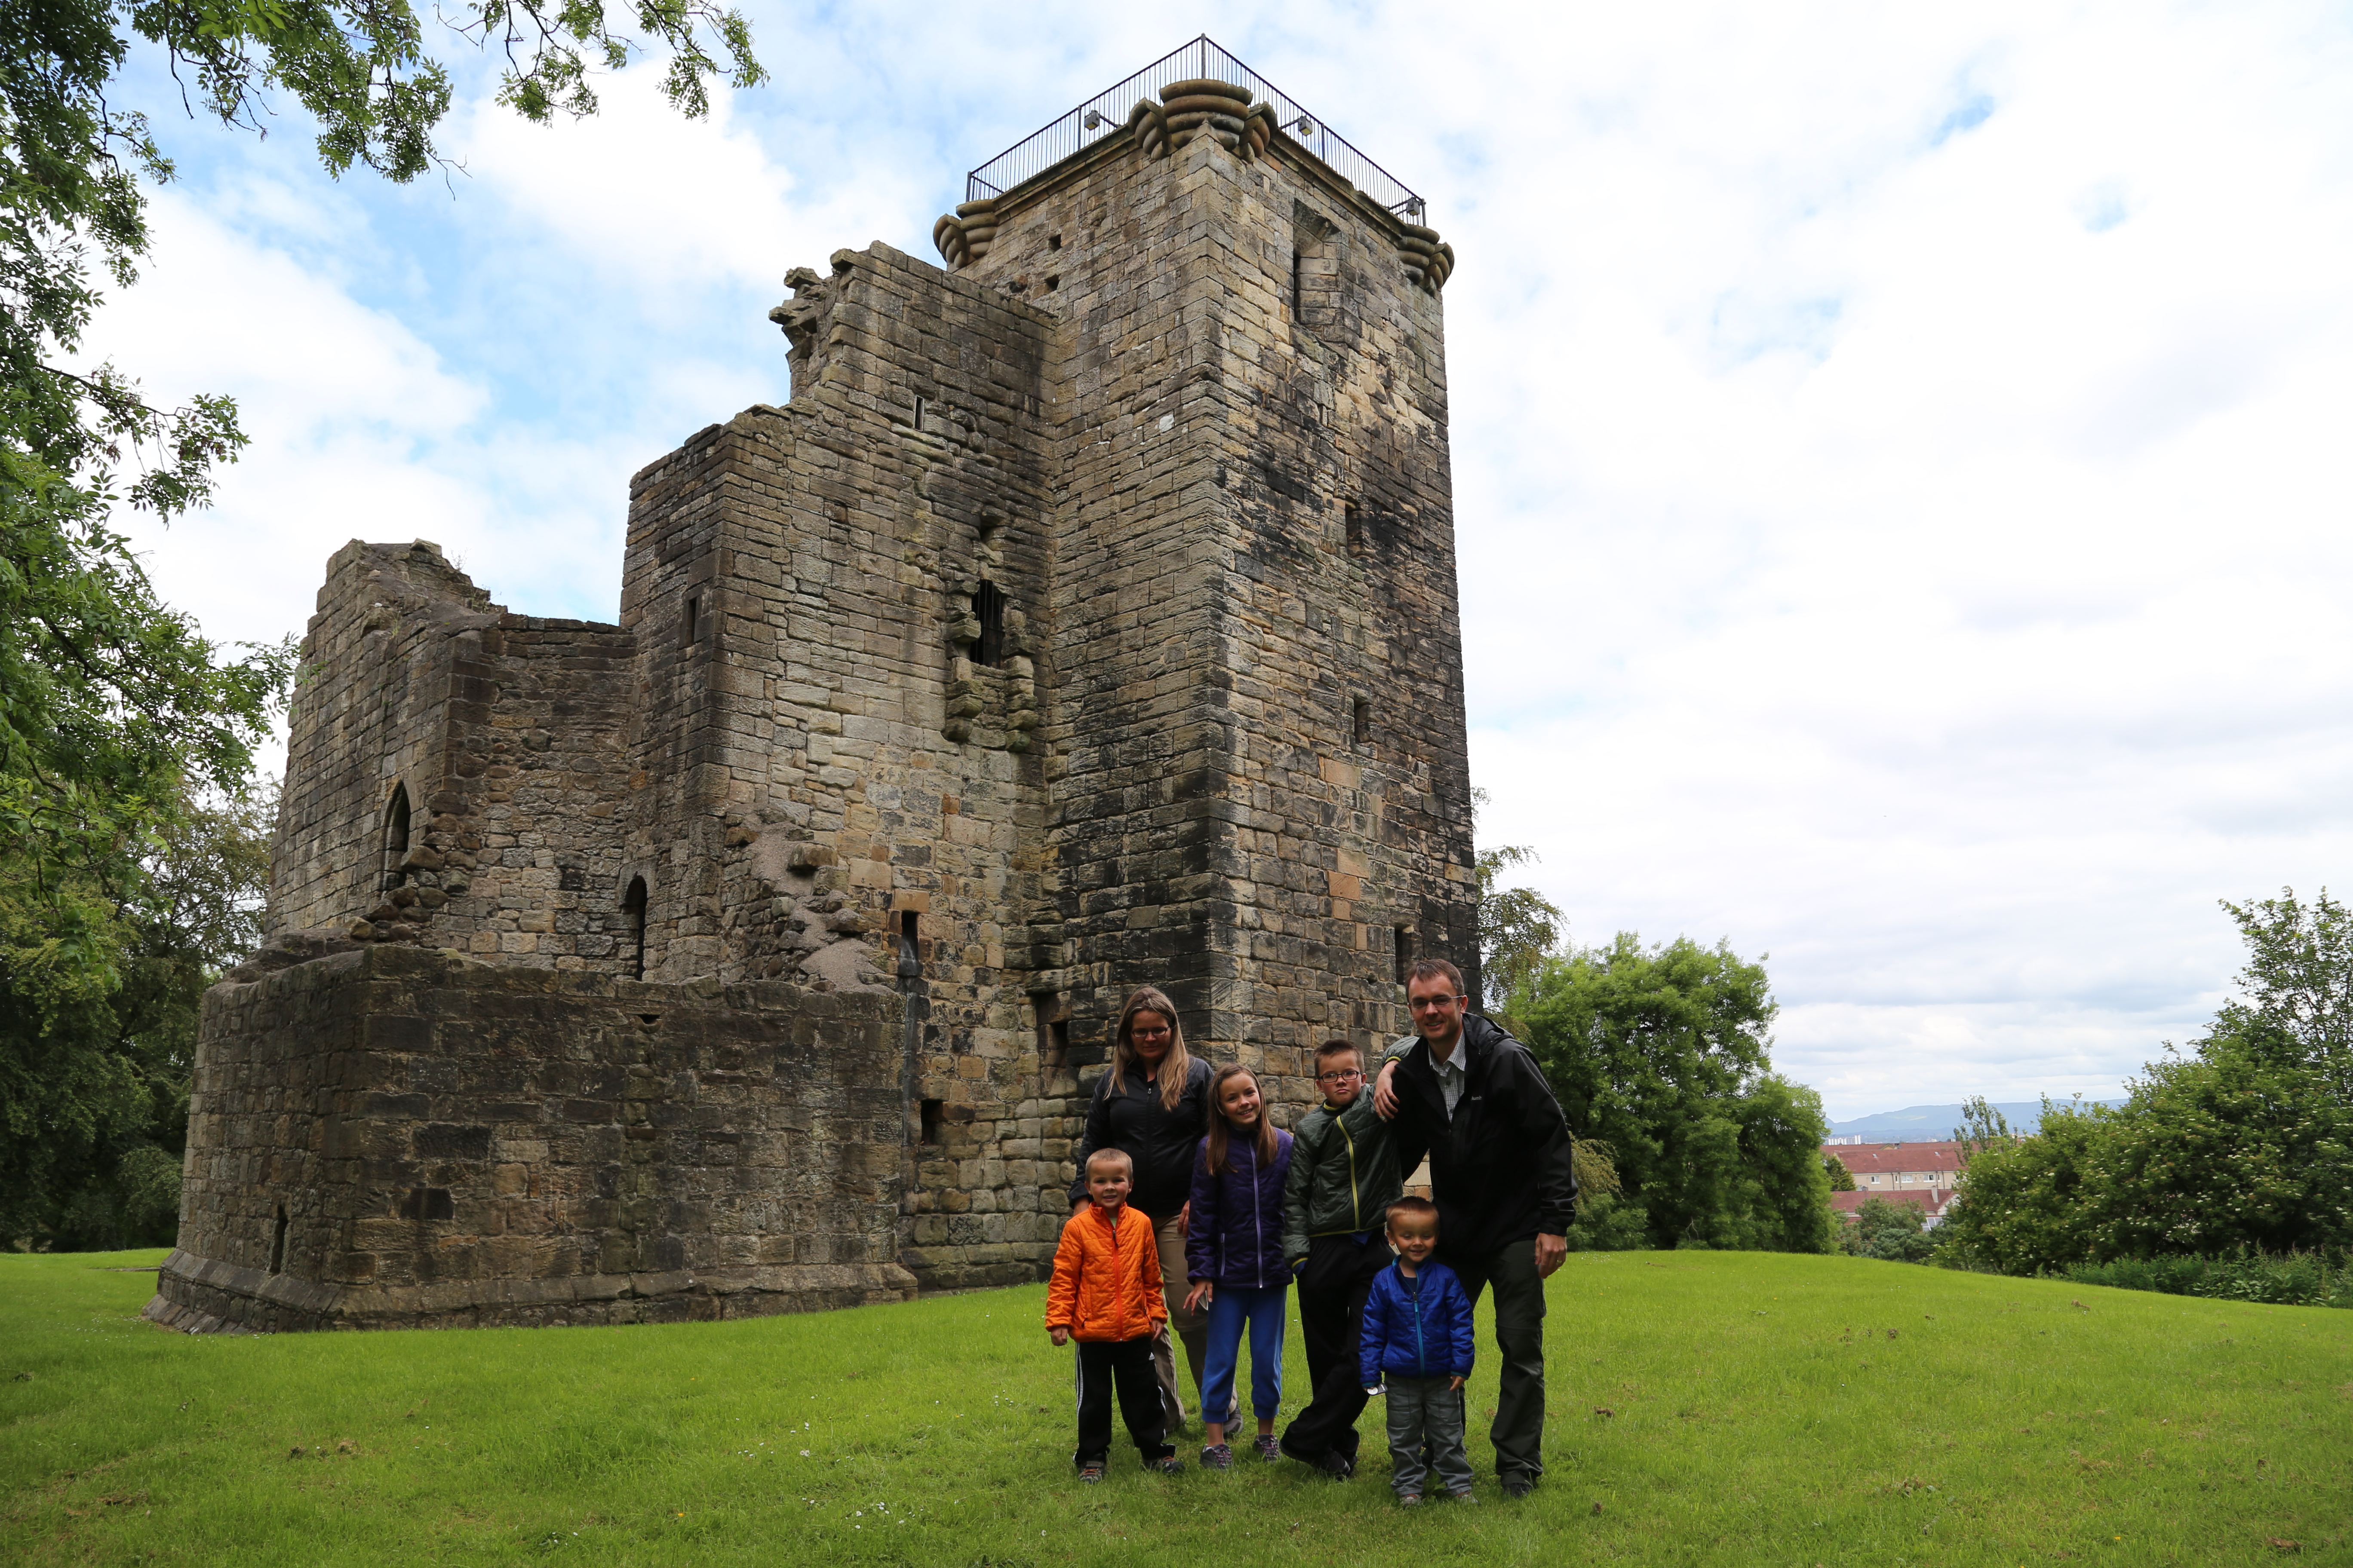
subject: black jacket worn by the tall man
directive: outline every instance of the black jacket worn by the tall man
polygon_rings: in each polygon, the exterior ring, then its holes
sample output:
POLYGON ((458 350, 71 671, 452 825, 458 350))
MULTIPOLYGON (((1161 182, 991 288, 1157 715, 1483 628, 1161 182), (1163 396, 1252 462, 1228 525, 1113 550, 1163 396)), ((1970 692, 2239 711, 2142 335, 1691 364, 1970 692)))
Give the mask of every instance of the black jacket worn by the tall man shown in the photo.
POLYGON ((1412 1173, 1428 1154, 1438 1251, 1478 1258, 1537 1232, 1567 1234, 1577 1218, 1569 1124, 1537 1058, 1478 1013, 1464 1018, 1454 1048, 1466 1053, 1464 1095, 1449 1121, 1428 1041, 1393 1046, 1398 1171, 1412 1173))

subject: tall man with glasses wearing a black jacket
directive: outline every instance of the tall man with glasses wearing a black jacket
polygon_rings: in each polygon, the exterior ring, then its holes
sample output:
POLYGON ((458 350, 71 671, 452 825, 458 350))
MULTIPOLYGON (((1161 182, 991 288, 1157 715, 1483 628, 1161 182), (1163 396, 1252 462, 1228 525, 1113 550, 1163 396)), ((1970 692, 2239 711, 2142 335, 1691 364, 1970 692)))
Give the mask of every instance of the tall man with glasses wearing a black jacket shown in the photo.
POLYGON ((1428 1154, 1440 1260, 1473 1307, 1494 1286, 1494 1469, 1525 1497, 1544 1474, 1544 1281, 1569 1253, 1569 1126, 1527 1046, 1471 1013, 1459 969, 1414 964, 1405 1001, 1414 1034, 1391 1046, 1369 1098, 1400 1171, 1428 1154))

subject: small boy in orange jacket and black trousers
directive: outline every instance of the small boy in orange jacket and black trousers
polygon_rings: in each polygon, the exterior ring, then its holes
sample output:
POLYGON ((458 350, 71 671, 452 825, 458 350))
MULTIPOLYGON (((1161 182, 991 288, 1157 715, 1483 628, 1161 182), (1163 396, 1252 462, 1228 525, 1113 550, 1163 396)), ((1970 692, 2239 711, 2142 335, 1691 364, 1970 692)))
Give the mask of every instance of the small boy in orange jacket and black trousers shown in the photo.
POLYGON ((1071 1215, 1054 1248, 1054 1284, 1045 1293, 1045 1331, 1056 1345, 1078 1340, 1078 1479, 1101 1481, 1111 1458, 1111 1392, 1120 1394, 1127 1436, 1144 1469, 1174 1476, 1184 1465, 1160 1425, 1160 1378, 1153 1331, 1167 1321, 1160 1295, 1160 1244, 1153 1222, 1127 1208, 1136 1166, 1120 1150, 1087 1157, 1092 1204, 1071 1215))

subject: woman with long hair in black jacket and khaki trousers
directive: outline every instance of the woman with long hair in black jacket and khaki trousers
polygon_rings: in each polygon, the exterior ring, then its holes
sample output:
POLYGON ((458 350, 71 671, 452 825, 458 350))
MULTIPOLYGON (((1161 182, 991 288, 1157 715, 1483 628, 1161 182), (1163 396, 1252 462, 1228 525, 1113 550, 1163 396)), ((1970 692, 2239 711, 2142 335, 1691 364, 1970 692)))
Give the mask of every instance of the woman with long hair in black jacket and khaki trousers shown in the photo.
MULTIPOLYGON (((1078 1140, 1078 1168, 1096 1150, 1120 1150, 1134 1161, 1134 1190, 1127 1206, 1148 1215, 1160 1246, 1160 1279, 1169 1307, 1169 1326, 1184 1342, 1200 1387, 1207 1356, 1209 1314, 1186 1305, 1184 1237, 1193 1194, 1193 1154, 1209 1128, 1209 1063, 1184 1048, 1184 1025, 1176 1004, 1155 985, 1129 992, 1111 1030, 1111 1070, 1094 1084, 1087 1105, 1087 1128, 1078 1140)), ((1087 1204, 1085 1178, 1071 1182, 1071 1213, 1087 1204)), ((1160 1403, 1167 1429, 1184 1427, 1184 1396, 1176 1387, 1176 1354, 1167 1328, 1153 1345, 1153 1371, 1160 1375, 1160 1403)))

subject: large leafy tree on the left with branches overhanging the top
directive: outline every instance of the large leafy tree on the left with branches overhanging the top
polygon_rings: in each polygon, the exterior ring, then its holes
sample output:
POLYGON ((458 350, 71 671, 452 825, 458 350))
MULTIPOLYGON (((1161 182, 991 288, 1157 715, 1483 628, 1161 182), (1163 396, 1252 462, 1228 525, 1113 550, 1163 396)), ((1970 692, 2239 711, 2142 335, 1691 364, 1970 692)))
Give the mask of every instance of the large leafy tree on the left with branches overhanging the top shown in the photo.
MULTIPOLYGON (((638 0, 631 16, 689 115, 722 71, 762 80, 736 12, 638 0)), ((452 26, 504 52, 499 96, 532 120, 593 113, 593 71, 640 47, 600 0, 478 0, 452 26)), ((158 409, 80 362, 94 270, 136 280, 141 181, 172 179, 115 92, 136 49, 226 125, 259 129, 268 94, 292 94, 334 174, 435 167, 449 108, 407 0, 0 0, 0 1229, 19 1239, 99 1208, 108 1234, 136 1232, 176 1182, 153 1135, 169 1041, 193 976, 249 922, 191 914, 174 877, 224 823, 249 827, 254 745, 292 677, 292 642, 231 654, 162 604, 115 527, 122 505, 205 505, 245 444, 228 400, 158 409)))

